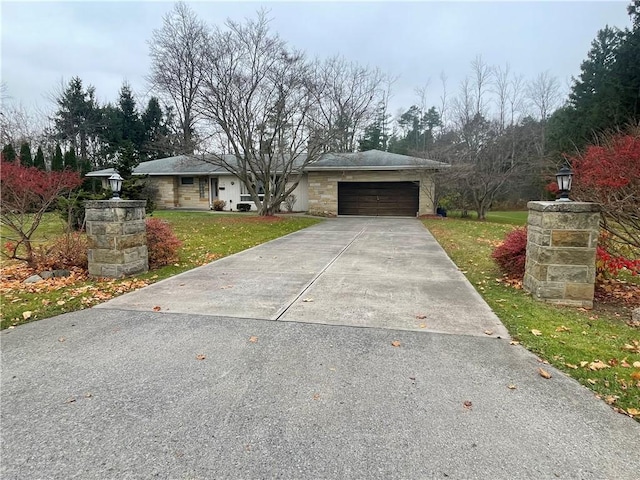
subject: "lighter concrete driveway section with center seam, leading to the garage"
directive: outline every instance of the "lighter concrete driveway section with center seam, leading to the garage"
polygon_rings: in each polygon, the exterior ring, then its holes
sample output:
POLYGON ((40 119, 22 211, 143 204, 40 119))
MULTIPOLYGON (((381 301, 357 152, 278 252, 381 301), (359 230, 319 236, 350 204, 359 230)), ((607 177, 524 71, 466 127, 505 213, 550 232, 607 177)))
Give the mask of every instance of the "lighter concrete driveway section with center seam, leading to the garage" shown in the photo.
POLYGON ((97 308, 154 307, 507 337, 500 320, 414 219, 328 220, 97 308))

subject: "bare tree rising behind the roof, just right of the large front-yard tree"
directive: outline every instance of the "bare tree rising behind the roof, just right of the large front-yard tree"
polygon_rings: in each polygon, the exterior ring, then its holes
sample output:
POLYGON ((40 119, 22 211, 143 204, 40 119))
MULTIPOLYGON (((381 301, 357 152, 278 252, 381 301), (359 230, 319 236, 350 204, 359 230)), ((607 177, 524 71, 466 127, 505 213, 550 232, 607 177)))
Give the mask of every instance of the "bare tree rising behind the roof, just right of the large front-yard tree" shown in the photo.
POLYGON ((353 152, 356 138, 384 100, 386 76, 342 57, 331 57, 315 65, 319 84, 316 101, 329 128, 336 132, 327 147, 333 152, 353 152))

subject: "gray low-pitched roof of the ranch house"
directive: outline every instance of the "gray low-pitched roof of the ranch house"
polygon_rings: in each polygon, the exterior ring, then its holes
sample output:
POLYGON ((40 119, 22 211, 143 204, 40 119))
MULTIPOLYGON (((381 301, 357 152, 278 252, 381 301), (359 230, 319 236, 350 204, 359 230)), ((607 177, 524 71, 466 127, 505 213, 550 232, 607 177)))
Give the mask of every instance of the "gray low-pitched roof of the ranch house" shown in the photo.
MULTIPOLYGON (((133 173, 135 175, 228 175, 224 167, 206 161, 206 156, 179 155, 177 157, 160 158, 142 162, 133 173)), ((209 158, 212 158, 209 156, 209 158)), ((233 160, 233 155, 226 155, 226 160, 233 160)), ((300 156, 300 161, 304 157, 300 156)), ((397 153, 368 150, 357 153, 325 153, 319 160, 305 167, 306 171, 317 170, 436 170, 449 165, 425 158, 409 157, 397 153)), ((113 168, 97 170, 87 174, 88 177, 108 177, 113 168)))

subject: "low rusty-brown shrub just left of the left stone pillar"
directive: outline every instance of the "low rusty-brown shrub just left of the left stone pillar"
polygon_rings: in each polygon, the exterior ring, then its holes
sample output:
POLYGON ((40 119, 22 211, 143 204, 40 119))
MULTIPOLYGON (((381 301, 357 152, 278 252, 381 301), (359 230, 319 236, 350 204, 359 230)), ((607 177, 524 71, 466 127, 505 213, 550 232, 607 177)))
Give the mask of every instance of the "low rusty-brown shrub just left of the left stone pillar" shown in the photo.
POLYGON ((72 267, 86 270, 88 250, 86 235, 71 232, 58 237, 49 245, 34 248, 34 267, 36 270, 61 270, 72 267))

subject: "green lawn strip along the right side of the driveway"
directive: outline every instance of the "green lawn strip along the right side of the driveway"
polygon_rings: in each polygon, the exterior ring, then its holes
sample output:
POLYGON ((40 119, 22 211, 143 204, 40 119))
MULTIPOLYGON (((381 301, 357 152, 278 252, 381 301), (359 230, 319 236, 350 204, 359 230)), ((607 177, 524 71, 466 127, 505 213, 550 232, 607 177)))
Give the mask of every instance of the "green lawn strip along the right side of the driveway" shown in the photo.
MULTIPOLYGON (((496 213, 501 220, 510 217, 496 213)), ((511 217, 513 225, 520 225, 519 218, 511 217)), ((614 408, 640 417, 640 330, 626 323, 628 309, 623 305, 596 305, 593 310, 554 306, 505 283, 490 254, 515 228, 509 222, 455 218, 423 222, 514 341, 592 389, 614 408)))

